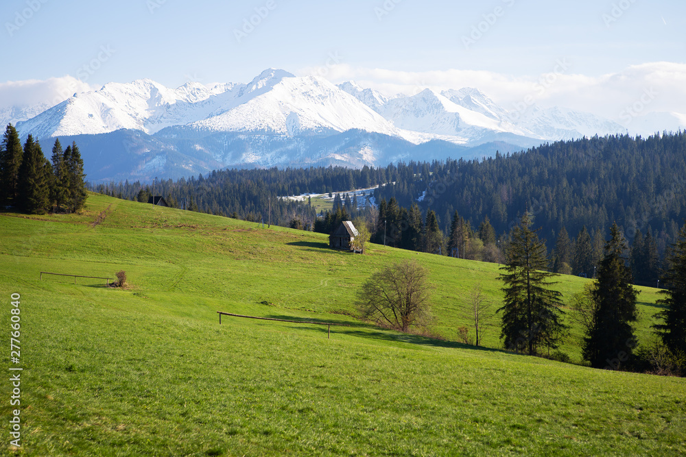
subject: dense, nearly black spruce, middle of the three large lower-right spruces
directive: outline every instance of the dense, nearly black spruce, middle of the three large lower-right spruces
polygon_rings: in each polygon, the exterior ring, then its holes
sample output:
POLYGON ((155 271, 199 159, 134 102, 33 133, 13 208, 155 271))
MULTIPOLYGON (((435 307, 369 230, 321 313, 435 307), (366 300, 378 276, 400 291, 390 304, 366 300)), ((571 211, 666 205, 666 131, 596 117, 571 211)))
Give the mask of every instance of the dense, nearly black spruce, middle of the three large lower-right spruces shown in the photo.
POLYGON ((624 257, 626 249, 626 240, 614 223, 604 258, 598 264, 592 329, 584 338, 582 355, 593 368, 619 369, 637 345, 631 323, 638 317, 638 293, 632 287, 631 269, 624 257))

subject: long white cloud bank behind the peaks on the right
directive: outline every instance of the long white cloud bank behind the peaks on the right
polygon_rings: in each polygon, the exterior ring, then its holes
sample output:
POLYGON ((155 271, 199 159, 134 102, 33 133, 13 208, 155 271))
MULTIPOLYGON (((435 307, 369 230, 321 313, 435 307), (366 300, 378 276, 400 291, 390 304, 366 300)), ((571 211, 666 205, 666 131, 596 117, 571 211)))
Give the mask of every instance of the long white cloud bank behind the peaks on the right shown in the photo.
MULTIPOLYGON (((302 69, 299 74, 312 73, 302 69)), ((651 62, 628 66, 600 76, 573 72, 573 62, 558 59, 541 75, 513 76, 492 71, 445 70, 407 72, 368 69, 347 64, 331 66, 326 75, 332 82, 355 80, 363 87, 392 96, 414 95, 423 88, 438 90, 475 87, 508 110, 527 97, 539 106, 563 106, 591 112, 626 125, 628 113, 643 116, 653 112, 686 112, 686 64, 651 62), (648 101, 646 92, 654 97, 648 101), (636 110, 635 108, 641 108, 636 110)))

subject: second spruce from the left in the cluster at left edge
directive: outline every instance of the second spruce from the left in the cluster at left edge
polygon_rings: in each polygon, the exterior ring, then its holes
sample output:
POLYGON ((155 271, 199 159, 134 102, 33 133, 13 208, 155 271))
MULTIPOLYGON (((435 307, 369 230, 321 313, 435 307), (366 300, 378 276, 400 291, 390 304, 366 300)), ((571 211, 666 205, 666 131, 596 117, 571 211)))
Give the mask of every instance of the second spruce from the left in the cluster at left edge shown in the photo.
POLYGON ((49 162, 40 144, 31 134, 24 143, 24 156, 19 167, 19 208, 30 214, 45 214, 49 207, 49 162))

